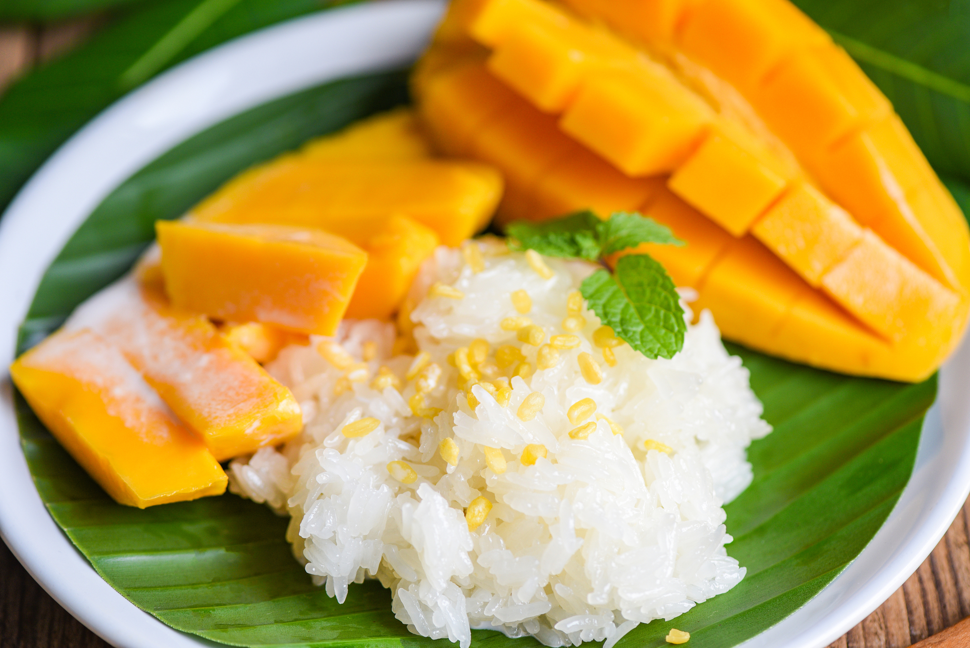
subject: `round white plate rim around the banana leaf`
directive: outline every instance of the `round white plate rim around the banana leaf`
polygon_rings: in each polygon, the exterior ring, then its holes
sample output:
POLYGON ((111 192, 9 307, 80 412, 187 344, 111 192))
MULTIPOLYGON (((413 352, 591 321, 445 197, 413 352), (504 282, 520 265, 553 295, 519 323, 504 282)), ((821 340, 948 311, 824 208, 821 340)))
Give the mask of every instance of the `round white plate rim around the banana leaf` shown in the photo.
MULTIPOLYGON (((423 47, 442 7, 443 0, 390 0, 291 20, 179 65, 85 126, 0 220, 0 367, 13 360, 16 327, 50 261, 119 182, 232 114, 322 81, 400 67, 423 47)), ((968 388, 964 343, 942 372, 916 469, 889 520, 819 596, 746 648, 822 648, 920 566, 970 491, 968 388)), ((20 452, 9 377, 0 382, 0 534, 50 596, 113 645, 212 645, 128 602, 60 532, 20 452)))

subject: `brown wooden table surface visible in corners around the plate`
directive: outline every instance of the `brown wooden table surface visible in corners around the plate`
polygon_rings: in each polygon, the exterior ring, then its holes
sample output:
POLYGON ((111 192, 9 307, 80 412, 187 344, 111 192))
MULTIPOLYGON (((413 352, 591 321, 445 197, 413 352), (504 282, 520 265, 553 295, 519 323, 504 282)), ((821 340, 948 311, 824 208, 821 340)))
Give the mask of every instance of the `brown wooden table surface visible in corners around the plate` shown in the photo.
MULTIPOLYGON (((0 92, 102 22, 0 25, 0 92)), ((970 501, 933 553, 879 609, 830 648, 904 648, 970 616, 970 501)), ((107 648, 61 608, 0 543, 0 648, 107 648)))

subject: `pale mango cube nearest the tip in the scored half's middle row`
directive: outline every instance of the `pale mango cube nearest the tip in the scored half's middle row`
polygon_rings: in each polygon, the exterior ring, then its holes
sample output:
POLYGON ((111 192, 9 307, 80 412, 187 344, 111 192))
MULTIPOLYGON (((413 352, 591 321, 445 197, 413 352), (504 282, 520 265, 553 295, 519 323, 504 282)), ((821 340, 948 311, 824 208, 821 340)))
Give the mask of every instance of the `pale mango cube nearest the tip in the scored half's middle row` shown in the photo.
POLYGON ((825 292, 891 341, 949 346, 962 328, 960 300, 871 231, 822 278, 825 292))

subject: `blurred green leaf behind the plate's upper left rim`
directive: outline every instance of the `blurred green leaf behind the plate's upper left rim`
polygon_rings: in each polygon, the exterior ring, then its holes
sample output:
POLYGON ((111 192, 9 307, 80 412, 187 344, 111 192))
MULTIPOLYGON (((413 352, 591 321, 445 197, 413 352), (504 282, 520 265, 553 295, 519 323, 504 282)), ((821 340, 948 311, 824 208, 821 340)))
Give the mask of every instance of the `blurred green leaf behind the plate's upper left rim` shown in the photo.
POLYGON ((0 211, 57 146, 132 88, 201 51, 335 4, 156 1, 16 81, 0 99, 0 211))

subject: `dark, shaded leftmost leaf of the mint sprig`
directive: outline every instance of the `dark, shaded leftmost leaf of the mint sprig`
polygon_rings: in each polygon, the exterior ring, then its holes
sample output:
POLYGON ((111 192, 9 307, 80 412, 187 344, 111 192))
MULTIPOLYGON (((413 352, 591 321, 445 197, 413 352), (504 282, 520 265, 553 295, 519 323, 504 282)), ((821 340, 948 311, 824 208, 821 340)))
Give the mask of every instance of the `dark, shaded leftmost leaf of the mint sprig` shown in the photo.
POLYGON ((533 249, 546 256, 596 261, 600 222, 592 211, 576 211, 542 223, 520 220, 509 224, 505 232, 513 250, 533 249))

